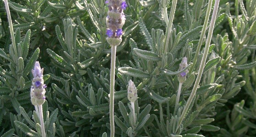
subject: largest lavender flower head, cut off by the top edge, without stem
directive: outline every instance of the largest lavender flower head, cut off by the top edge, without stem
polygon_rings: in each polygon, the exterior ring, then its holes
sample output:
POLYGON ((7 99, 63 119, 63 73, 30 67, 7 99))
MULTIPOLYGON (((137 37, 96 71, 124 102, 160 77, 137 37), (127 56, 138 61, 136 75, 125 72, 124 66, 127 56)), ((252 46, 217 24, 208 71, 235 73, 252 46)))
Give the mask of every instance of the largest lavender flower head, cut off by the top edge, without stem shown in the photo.
POLYGON ((127 8, 124 0, 107 0, 109 11, 106 18, 107 41, 111 46, 118 46, 122 41, 123 30, 122 27, 125 23, 125 15, 123 11, 127 8))

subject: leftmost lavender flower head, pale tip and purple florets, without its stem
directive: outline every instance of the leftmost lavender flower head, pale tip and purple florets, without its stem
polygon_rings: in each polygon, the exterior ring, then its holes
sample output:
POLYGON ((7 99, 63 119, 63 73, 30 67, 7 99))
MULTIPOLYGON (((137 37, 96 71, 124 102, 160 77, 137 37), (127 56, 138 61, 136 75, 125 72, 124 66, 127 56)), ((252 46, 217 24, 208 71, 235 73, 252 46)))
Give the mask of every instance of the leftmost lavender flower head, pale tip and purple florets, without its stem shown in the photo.
POLYGON ((35 62, 34 69, 32 74, 34 76, 32 80, 32 86, 30 89, 30 97, 33 105, 41 105, 45 101, 45 88, 47 87, 44 84, 43 79, 44 68, 41 69, 41 66, 38 61, 35 62))

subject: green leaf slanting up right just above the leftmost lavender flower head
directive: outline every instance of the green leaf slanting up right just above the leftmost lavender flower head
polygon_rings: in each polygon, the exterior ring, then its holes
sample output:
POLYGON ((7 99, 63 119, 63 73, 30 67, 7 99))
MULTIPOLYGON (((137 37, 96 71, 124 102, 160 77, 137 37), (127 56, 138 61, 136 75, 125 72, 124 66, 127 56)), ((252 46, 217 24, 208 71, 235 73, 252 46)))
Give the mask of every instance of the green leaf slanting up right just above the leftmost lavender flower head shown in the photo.
POLYGON ((40 53, 40 49, 37 48, 32 57, 29 59, 29 61, 27 62, 26 64, 26 67, 23 71, 23 76, 27 76, 27 74, 29 74, 29 72, 33 69, 34 65, 35 65, 35 62, 36 60, 38 59, 38 56, 39 56, 39 53, 40 53))

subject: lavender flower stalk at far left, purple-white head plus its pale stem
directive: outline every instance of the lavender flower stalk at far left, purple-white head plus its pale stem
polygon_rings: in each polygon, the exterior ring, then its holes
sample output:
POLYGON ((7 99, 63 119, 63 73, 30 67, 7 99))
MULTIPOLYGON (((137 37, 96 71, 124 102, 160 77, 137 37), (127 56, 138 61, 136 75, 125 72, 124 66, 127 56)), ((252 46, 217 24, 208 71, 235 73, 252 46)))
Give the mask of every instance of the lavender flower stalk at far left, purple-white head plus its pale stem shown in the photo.
POLYGON ((30 97, 31 97, 32 104, 35 106, 36 113, 40 117, 42 137, 46 137, 45 129, 44 129, 43 108, 42 108, 42 104, 45 102, 44 95, 45 95, 45 88, 46 88, 46 85, 44 84, 44 79, 43 79, 43 72, 44 72, 44 68, 41 69, 39 62, 36 61, 34 69, 32 70, 32 74, 34 78, 32 80, 32 86, 30 89, 30 97))

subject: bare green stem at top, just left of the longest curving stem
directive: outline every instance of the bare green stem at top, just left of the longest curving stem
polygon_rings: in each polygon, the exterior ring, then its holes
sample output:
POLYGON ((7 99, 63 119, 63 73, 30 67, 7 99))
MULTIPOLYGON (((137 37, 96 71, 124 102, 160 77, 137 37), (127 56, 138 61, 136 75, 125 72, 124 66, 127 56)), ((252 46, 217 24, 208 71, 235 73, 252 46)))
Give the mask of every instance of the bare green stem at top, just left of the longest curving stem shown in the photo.
POLYGON ((212 8, 212 0, 209 0, 206 15, 205 15, 205 18, 204 18, 202 33, 201 33, 201 36, 200 36, 200 39, 199 39, 199 42, 198 42, 197 51, 196 51, 196 54, 195 54, 195 57, 194 57, 194 60, 193 60, 193 65, 192 65, 192 67, 189 71, 189 74, 191 74, 194 71, 194 67, 196 66, 198 54, 200 52, 200 49, 201 49, 201 46, 202 46, 202 43, 203 43, 203 37, 205 35, 206 28, 207 28, 207 25, 208 25, 210 13, 211 13, 211 8, 212 8))

